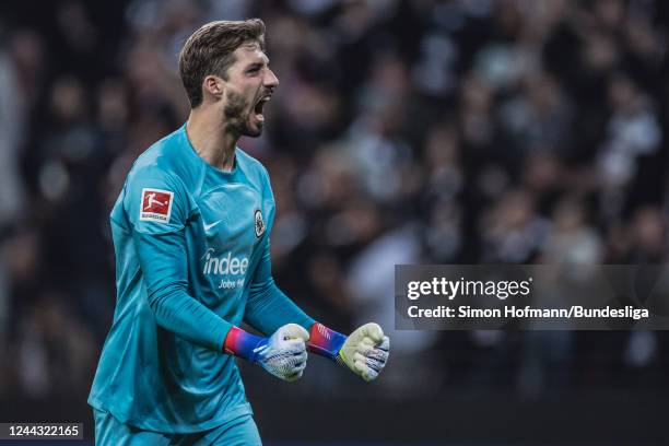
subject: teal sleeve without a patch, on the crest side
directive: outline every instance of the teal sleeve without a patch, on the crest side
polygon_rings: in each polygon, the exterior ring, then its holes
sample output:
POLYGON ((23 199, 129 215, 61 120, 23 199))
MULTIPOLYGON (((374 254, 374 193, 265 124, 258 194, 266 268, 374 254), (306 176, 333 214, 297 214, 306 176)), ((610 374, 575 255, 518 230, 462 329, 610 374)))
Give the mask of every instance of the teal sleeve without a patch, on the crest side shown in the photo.
POLYGON ((297 324, 307 331, 315 320, 307 316, 274 283, 270 259, 269 236, 262 258, 255 271, 244 320, 265 334, 271 334, 286 324, 297 324))

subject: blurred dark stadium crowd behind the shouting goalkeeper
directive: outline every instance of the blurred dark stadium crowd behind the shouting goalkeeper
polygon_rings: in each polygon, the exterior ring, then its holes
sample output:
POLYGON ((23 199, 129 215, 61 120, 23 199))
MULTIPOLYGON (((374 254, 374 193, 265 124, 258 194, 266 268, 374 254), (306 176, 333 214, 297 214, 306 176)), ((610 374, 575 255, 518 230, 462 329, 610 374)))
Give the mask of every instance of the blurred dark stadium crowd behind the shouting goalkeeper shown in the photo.
POLYGON ((108 211, 187 116, 185 37, 249 16, 281 81, 239 144, 272 176, 278 283, 394 344, 373 385, 244 367, 267 444, 668 444, 665 332, 392 330, 395 263, 666 261, 660 0, 2 1, 0 420, 92 435, 108 211))

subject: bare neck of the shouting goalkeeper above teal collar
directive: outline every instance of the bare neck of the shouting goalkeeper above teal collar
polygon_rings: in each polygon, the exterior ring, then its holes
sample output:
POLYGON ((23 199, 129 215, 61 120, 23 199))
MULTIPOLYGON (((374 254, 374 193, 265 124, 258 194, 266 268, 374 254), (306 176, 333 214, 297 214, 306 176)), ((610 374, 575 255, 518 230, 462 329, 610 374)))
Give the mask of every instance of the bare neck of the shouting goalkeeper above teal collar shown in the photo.
POLYGON ((223 172, 232 172, 239 137, 212 111, 199 108, 190 110, 186 133, 202 160, 223 172))

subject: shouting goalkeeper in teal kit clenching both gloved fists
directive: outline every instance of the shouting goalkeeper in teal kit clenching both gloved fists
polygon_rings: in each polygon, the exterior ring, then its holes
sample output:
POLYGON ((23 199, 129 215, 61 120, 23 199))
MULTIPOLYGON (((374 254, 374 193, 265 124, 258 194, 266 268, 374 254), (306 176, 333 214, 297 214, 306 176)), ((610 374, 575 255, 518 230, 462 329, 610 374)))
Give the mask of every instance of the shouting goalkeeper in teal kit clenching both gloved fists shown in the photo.
POLYGON ((345 337, 272 280, 269 176, 236 145, 261 134, 279 84, 263 35, 255 19, 188 38, 188 121, 136 161, 114 206, 116 310, 89 397, 99 445, 260 445, 234 356, 285 380, 307 351, 365 380, 386 364, 379 326, 345 337))

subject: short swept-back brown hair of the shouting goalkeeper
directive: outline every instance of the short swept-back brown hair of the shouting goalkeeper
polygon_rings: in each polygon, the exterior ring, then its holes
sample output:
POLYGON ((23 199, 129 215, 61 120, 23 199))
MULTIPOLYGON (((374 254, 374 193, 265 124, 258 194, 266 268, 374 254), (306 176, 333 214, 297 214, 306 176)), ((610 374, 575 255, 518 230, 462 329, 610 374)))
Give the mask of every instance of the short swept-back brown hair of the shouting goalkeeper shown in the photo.
POLYGON ((265 51, 265 23, 260 19, 210 22, 192 33, 179 55, 179 75, 190 106, 202 104, 202 82, 210 74, 227 80, 234 50, 258 43, 265 51))

